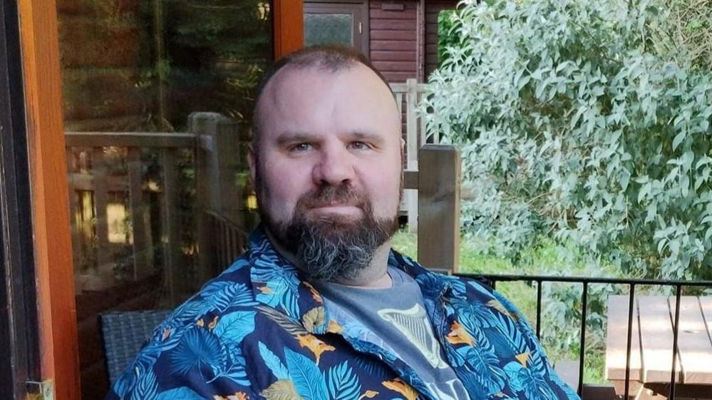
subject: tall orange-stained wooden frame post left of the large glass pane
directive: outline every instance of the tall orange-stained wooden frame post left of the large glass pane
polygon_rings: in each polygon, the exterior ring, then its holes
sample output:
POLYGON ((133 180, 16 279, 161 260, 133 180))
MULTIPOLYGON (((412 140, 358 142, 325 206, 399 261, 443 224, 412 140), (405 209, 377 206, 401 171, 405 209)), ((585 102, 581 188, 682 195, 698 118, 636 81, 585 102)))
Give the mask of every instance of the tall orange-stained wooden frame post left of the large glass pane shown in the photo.
POLYGON ((74 271, 55 0, 20 0, 42 379, 78 400, 74 271))

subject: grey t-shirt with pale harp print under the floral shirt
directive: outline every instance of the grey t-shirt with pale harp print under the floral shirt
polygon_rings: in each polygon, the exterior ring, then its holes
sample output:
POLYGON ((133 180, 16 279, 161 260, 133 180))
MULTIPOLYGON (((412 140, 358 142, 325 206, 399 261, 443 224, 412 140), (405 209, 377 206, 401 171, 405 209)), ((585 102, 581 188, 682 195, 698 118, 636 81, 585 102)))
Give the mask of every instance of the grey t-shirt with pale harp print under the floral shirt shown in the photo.
POLYGON ((423 304, 423 294, 413 278, 388 267, 393 286, 368 289, 315 282, 332 317, 347 314, 366 332, 361 339, 393 352, 427 384, 438 400, 469 400, 463 384, 443 357, 423 304))

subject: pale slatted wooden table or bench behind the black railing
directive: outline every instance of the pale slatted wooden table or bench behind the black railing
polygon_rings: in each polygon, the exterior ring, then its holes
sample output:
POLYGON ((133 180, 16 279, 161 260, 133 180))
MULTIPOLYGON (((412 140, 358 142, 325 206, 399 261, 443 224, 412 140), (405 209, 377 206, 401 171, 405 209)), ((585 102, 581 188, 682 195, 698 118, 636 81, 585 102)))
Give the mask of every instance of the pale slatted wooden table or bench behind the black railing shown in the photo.
MULTIPOLYGON (((630 383, 627 396, 664 399, 672 376, 675 297, 634 299, 630 383)), ((624 394, 628 342, 628 296, 608 302, 606 377, 624 394)), ((676 399, 712 399, 712 297, 683 296, 680 302, 676 399)))

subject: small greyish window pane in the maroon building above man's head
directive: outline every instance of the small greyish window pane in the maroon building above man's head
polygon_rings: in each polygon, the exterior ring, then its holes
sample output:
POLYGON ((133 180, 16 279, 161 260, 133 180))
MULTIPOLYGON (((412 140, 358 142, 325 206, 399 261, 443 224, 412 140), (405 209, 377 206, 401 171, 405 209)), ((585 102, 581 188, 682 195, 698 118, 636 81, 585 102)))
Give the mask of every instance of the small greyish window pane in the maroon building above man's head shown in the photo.
POLYGON ((354 46, 351 14, 304 14, 304 45, 340 43, 354 46))

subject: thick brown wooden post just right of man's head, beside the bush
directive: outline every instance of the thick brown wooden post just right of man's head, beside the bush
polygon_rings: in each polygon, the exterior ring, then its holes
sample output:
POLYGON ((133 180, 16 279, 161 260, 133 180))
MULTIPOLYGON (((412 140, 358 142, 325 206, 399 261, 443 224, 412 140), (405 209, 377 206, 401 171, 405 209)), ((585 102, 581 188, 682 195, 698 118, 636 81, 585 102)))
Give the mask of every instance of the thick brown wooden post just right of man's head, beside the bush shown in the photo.
POLYGON ((418 161, 418 261, 458 272, 460 260, 460 150, 424 145, 418 161))

